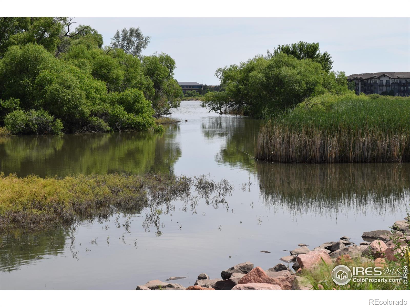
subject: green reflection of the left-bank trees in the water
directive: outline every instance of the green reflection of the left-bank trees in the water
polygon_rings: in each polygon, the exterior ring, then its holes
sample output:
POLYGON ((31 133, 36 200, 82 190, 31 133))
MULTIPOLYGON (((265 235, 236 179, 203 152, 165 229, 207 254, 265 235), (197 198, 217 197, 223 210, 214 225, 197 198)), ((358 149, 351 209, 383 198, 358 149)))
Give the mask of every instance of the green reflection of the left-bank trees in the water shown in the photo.
MULTIPOLYGON (((173 125, 168 129, 178 128, 173 125)), ((18 176, 172 173, 180 156, 173 133, 27 135, 0 139, 0 172, 18 176)))

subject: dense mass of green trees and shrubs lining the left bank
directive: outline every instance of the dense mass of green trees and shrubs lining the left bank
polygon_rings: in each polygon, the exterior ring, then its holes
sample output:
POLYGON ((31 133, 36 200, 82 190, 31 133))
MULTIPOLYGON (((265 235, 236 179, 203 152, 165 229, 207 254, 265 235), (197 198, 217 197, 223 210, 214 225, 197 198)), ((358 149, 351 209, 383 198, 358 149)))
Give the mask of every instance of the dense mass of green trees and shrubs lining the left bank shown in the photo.
POLYGON ((162 130, 154 117, 182 90, 167 54, 123 29, 103 47, 93 28, 59 17, 1 17, 0 126, 14 134, 162 130))

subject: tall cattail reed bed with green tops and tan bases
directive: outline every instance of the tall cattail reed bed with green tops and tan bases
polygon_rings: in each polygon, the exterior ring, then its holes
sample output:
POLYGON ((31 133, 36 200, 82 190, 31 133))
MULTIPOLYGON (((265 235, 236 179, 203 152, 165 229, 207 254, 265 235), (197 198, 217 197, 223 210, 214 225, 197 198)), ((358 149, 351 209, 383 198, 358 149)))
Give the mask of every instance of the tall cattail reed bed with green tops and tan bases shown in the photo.
POLYGON ((410 98, 322 95, 276 115, 256 158, 288 163, 410 161, 410 98))

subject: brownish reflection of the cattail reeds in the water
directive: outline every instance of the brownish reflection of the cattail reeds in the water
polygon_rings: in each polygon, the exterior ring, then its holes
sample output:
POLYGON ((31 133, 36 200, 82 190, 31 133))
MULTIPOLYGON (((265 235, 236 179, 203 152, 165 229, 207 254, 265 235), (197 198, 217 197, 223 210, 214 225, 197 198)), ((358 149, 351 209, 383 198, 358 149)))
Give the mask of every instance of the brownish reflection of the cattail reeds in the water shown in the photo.
POLYGON ((410 164, 255 163, 265 203, 286 210, 334 215, 403 210, 410 201, 410 164))

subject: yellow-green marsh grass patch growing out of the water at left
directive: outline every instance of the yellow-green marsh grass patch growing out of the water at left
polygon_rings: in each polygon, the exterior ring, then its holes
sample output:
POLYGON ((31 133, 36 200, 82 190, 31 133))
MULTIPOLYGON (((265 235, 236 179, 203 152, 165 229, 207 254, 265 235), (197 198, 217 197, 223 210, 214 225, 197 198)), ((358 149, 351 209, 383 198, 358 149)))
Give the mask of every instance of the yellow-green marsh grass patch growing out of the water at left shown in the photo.
MULTIPOLYGON (((186 197, 189 182, 185 176, 156 174, 18 178, 0 173, 0 230, 49 228, 94 218, 103 221, 114 213, 186 197)), ((129 220, 126 223, 129 228, 129 220)))

